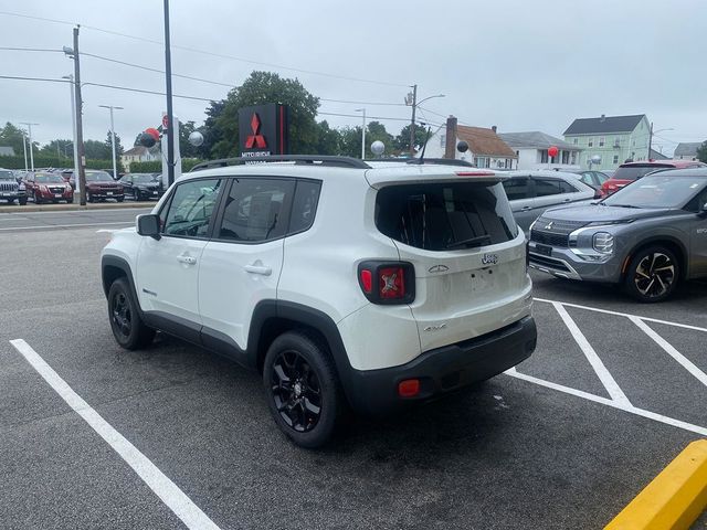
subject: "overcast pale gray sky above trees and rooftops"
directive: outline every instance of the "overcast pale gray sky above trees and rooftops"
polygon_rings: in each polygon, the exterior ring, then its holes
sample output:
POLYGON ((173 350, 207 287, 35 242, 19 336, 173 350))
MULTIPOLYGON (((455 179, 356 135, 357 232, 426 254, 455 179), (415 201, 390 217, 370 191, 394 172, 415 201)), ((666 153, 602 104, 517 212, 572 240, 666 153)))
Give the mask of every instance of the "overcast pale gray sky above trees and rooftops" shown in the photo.
MULTIPOLYGON (((33 0, 0 2, 0 11, 82 23, 81 51, 163 68, 163 47, 101 30, 163 40, 162 2, 122 0, 33 0), (60 9, 61 7, 61 9, 60 9), (93 26, 94 29, 87 28, 93 26)), ((0 14, 0 46, 61 49, 72 45, 72 25, 0 14)), ((601 114, 647 114, 655 139, 671 153, 678 141, 707 138, 707 72, 704 0, 447 0, 441 2, 271 0, 172 0, 172 44, 254 62, 334 76, 314 75, 182 47, 172 50, 172 70, 232 85, 252 70, 298 77, 314 95, 329 99, 403 103, 419 85, 423 119, 499 131, 541 130, 561 136, 572 119, 601 114), (378 81, 366 83, 341 77, 378 81), (437 114, 432 114, 437 113, 437 114)), ((73 63, 62 53, 0 51, 0 75, 61 78, 73 63)), ((159 73, 82 57, 82 77, 163 92, 159 73)), ((221 99, 228 87, 173 80, 175 94, 221 99)), ((124 145, 156 126, 165 98, 96 86, 84 87, 84 137, 104 139, 108 113, 119 105, 116 132, 124 145)), ((175 99, 175 114, 201 124, 207 102, 175 99)), ((410 108, 323 102, 323 113, 409 119, 410 108)), ((321 115, 335 126, 360 118, 321 115)), ((0 80, 0 121, 34 121, 44 144, 71 137, 68 88, 57 83, 0 80)), ((402 120, 382 120, 397 134, 402 120)))

